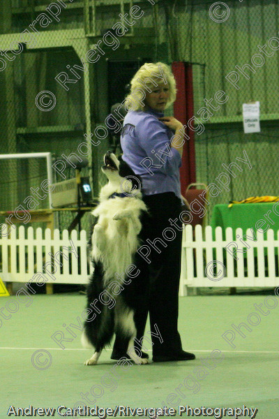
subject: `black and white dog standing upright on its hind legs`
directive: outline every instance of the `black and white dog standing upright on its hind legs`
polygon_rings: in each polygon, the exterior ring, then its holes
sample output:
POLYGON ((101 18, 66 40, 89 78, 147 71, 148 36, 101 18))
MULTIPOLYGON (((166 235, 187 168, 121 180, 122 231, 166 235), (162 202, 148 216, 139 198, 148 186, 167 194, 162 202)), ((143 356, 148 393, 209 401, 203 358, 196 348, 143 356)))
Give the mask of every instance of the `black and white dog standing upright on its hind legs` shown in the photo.
POLYGON ((111 152, 104 156, 102 171, 109 182, 100 191, 100 203, 93 211, 96 223, 91 237, 94 272, 87 289, 87 319, 82 344, 96 349, 84 365, 96 365, 102 349, 114 332, 128 340, 128 355, 137 364, 146 364, 135 352, 137 334, 136 252, 140 247, 141 216, 147 211, 140 192, 140 177, 111 152), (129 276, 129 272, 134 275, 129 276), (133 279, 129 279, 129 278, 133 279))

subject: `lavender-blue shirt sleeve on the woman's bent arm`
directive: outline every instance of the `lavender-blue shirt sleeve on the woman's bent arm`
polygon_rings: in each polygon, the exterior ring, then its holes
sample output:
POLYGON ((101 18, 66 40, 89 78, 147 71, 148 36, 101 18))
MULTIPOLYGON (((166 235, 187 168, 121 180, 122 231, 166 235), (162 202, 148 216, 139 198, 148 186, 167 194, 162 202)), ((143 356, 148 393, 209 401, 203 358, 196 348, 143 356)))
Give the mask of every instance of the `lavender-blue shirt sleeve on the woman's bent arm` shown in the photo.
POLYGON ((178 150, 171 147, 163 122, 152 116, 147 117, 137 124, 135 133, 140 147, 146 153, 140 163, 143 168, 166 175, 172 175, 180 168, 181 156, 178 150))

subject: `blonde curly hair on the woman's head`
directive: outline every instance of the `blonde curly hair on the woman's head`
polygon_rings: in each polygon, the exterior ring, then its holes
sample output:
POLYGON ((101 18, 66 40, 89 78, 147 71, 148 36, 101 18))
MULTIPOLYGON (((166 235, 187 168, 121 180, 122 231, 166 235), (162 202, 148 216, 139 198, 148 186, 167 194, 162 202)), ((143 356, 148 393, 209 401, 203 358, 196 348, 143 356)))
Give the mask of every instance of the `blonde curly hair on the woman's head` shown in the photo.
POLYGON ((130 93, 124 102, 126 110, 144 110, 146 92, 162 84, 169 84, 168 108, 176 99, 176 81, 172 71, 160 61, 156 64, 145 63, 130 81, 130 93))

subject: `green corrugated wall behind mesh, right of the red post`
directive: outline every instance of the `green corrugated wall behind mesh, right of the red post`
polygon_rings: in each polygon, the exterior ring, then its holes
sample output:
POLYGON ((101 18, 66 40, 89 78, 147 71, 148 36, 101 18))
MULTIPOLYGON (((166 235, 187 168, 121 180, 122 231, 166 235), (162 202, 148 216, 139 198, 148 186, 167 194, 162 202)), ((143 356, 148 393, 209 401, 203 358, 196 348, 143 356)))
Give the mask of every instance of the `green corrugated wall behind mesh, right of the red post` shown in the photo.
POLYGON ((232 199, 277 196, 278 2, 193 0, 165 8, 171 59, 193 64, 195 116, 204 124, 202 135, 195 135, 197 182, 220 187, 210 197, 209 214, 213 205, 232 199), (218 91, 227 97, 219 108, 218 91), (213 99, 213 108, 204 99, 213 99), (250 101, 260 102, 261 132, 244 134, 242 105, 250 101), (208 121, 200 117, 205 107, 208 121), (223 164, 245 159, 244 150, 252 168, 239 163, 243 171, 236 169, 234 177, 223 164), (229 175, 227 188, 216 182, 222 172, 229 175))

